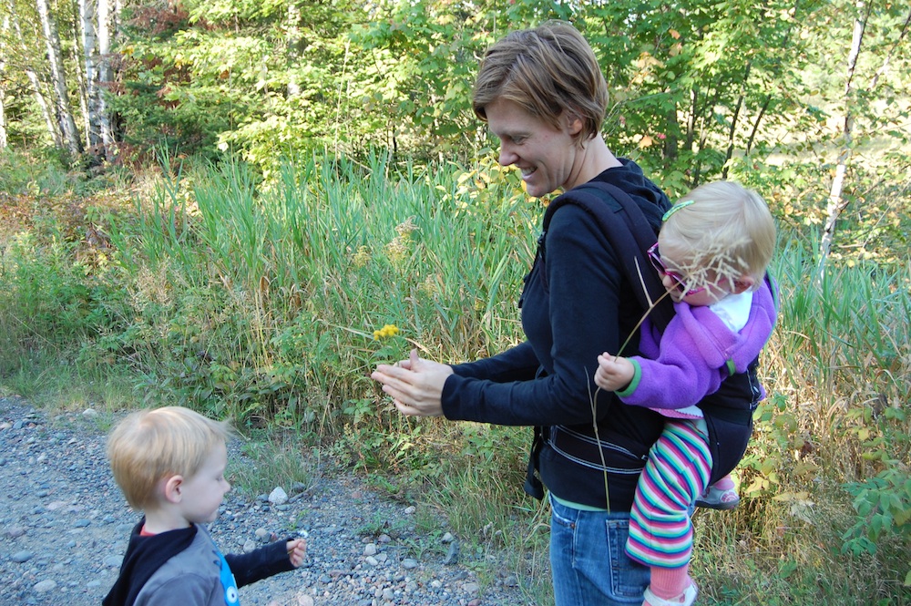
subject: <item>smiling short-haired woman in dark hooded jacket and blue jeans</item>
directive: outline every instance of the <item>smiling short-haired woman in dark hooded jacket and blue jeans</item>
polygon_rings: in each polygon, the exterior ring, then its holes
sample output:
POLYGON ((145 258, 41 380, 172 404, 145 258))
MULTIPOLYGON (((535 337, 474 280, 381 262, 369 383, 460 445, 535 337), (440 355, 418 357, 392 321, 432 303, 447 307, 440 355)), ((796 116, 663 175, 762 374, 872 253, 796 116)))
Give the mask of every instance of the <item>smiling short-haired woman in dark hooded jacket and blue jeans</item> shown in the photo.
MULTIPOLYGON (((630 195, 657 235, 670 208, 633 162, 600 135, 607 85, 585 39, 548 23, 491 46, 473 95, 532 196, 601 180, 630 195)), ((611 208, 616 200, 604 194, 611 208)), ((636 482, 662 419, 614 404, 592 376, 598 355, 634 333, 644 313, 597 221, 575 204, 555 211, 519 302, 527 341, 463 365, 419 359, 372 377, 404 415, 538 426, 535 461, 550 491, 551 567, 558 606, 641 604, 649 570, 624 553, 636 482), (597 431, 595 429, 597 427, 597 431), (600 443, 600 448, 598 444, 600 443), (605 532, 607 529, 607 532, 605 532)), ((624 354, 638 354, 637 339, 624 354)))

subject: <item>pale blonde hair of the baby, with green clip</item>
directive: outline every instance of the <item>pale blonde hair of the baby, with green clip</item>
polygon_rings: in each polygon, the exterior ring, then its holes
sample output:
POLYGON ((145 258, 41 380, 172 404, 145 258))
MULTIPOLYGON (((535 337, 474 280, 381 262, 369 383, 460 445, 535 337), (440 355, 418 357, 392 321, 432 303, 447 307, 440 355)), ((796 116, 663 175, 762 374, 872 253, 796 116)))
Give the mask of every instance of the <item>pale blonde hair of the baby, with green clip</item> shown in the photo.
POLYGON ((714 279, 751 276, 758 288, 772 262, 775 221, 754 190, 715 181, 692 190, 668 211, 660 238, 683 252, 686 266, 680 269, 692 282, 705 282, 711 272, 714 279))

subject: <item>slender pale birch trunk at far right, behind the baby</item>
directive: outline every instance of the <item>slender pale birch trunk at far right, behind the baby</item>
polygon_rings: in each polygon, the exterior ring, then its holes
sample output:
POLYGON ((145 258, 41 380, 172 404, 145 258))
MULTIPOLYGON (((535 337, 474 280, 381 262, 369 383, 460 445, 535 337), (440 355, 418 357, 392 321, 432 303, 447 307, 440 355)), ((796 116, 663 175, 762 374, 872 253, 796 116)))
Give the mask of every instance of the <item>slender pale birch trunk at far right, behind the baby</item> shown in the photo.
POLYGON ((829 190, 829 201, 825 208, 826 219, 823 230, 823 239, 819 244, 819 267, 817 273, 820 280, 822 280, 825 272, 825 262, 828 260, 829 253, 832 251, 835 222, 838 221, 838 216, 848 205, 848 200, 844 200, 842 196, 842 190, 844 190, 844 175, 847 172, 848 162, 851 160, 851 138, 853 136, 854 128, 854 116, 851 112, 852 80, 854 79, 855 71, 857 69, 857 57, 860 56, 860 49, 864 42, 866 20, 870 15, 870 8, 866 7, 864 0, 858 0, 856 6, 857 16, 855 18, 854 35, 851 38, 851 49, 848 51, 847 77, 844 82, 842 151, 838 155, 838 166, 835 168, 832 188, 829 190))

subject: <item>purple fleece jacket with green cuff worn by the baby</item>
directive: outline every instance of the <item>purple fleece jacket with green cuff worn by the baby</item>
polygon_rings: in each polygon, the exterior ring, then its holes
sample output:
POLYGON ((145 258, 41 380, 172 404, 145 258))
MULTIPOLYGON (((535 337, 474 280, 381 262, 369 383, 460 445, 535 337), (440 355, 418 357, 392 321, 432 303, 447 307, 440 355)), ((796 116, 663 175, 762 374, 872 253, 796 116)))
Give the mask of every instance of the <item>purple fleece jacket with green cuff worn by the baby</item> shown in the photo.
MULTIPOLYGON (((646 318, 641 356, 631 356, 630 385, 617 392, 632 406, 679 409, 718 390, 728 375, 756 359, 775 325, 776 305, 768 281, 752 293, 747 324, 733 332, 709 307, 674 303, 674 317, 660 334, 646 318)), ((764 394, 763 394, 764 395, 764 394)))

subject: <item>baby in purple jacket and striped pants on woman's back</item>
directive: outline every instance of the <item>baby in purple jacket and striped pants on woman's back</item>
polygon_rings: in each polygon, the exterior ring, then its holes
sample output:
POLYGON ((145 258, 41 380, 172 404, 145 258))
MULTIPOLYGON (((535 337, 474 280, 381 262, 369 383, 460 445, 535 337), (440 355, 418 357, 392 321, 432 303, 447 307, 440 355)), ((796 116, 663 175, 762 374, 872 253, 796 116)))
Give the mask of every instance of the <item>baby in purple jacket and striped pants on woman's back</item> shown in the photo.
POLYGON ((596 385, 667 417, 630 511, 626 551, 651 569, 645 606, 695 601, 691 508, 732 508, 739 500, 728 477, 707 485, 713 470, 736 465, 719 468, 714 459, 742 456, 730 443, 745 447, 762 387, 752 385, 752 397, 715 398, 713 406, 702 400, 744 373, 772 334, 777 305, 766 270, 774 247, 772 213, 755 191, 732 181, 692 190, 664 215, 648 252, 674 302, 673 319, 661 334, 646 319, 641 356, 598 356, 596 385), (728 452, 711 437, 720 426, 728 452))

